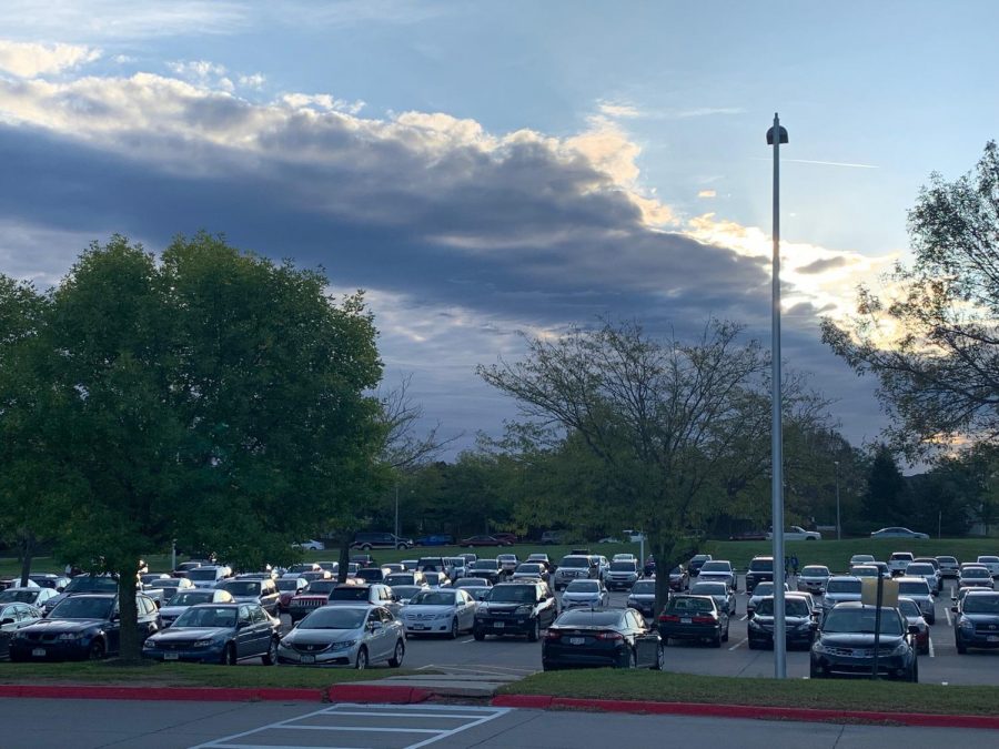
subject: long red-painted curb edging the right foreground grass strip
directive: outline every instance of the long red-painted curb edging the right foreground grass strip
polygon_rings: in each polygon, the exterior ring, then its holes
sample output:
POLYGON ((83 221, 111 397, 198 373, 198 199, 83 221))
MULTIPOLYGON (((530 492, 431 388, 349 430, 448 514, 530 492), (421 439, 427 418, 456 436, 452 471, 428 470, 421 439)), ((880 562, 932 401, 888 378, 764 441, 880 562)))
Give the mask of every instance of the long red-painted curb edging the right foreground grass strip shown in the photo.
POLYGON ((495 707, 535 710, 575 709, 605 712, 645 712, 706 718, 798 720, 804 722, 866 722, 924 726, 928 728, 982 728, 999 730, 999 716, 948 716, 922 712, 868 712, 864 710, 820 710, 750 705, 708 705, 700 702, 655 702, 612 699, 581 699, 551 695, 501 695, 490 702, 495 707))

